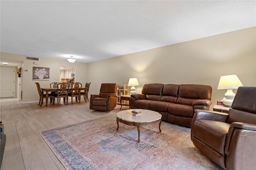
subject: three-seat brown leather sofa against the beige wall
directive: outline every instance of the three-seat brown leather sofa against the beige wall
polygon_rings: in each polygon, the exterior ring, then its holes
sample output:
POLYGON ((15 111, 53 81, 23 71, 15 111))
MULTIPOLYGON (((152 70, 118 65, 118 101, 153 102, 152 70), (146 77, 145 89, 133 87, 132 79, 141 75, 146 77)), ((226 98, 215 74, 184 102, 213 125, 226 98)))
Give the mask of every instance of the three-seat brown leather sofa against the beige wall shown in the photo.
POLYGON ((145 84, 142 94, 130 98, 131 109, 148 109, 162 115, 162 121, 191 127, 194 110, 209 110, 212 87, 193 84, 145 84))

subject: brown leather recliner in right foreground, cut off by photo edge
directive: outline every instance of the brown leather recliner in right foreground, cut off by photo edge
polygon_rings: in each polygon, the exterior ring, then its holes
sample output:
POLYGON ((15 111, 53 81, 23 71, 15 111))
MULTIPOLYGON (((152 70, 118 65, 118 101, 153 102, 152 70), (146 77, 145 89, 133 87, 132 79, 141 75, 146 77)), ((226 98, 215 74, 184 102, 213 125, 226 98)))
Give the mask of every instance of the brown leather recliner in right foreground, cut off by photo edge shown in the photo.
POLYGON ((256 87, 239 87, 229 113, 195 110, 191 140, 227 170, 256 167, 256 87))

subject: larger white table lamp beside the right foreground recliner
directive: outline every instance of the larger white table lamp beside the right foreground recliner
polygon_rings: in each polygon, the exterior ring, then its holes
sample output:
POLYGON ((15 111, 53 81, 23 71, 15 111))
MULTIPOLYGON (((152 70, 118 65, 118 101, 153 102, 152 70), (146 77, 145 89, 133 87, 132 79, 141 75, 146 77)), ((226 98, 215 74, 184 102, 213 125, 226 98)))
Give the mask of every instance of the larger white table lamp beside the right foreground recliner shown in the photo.
POLYGON ((238 87, 244 86, 236 75, 224 75, 220 77, 220 81, 217 90, 227 90, 225 97, 223 99, 223 104, 227 107, 231 107, 235 93, 233 89, 238 89, 238 87))

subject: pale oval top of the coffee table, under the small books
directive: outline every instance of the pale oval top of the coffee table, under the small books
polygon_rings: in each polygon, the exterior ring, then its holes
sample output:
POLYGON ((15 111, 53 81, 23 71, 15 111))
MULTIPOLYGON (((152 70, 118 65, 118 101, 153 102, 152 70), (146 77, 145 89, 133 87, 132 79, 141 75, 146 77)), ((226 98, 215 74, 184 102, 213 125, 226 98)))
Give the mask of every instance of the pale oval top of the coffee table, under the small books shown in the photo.
POLYGON ((140 115, 132 116, 133 110, 134 109, 120 111, 116 113, 116 116, 124 121, 134 123, 154 122, 162 118, 162 115, 160 113, 146 109, 136 109, 141 111, 140 115))

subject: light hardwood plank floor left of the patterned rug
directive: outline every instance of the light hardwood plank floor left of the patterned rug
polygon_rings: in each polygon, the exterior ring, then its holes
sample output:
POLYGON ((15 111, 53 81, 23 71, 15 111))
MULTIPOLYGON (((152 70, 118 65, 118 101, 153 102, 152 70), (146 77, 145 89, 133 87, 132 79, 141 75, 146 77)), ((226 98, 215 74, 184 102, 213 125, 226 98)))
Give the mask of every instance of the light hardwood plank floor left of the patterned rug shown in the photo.
MULTIPOLYGON (((90 102, 81 99, 64 105, 38 106, 38 103, 22 104, 13 100, 6 104, 0 100, 0 121, 4 124, 6 146, 1 170, 58 170, 65 169, 46 144, 39 131, 62 127, 90 119, 111 115, 120 111, 117 105, 112 111, 92 111, 90 102), (1 104, 2 103, 2 104, 1 104)), ((122 110, 128 106, 122 106, 122 110)))

